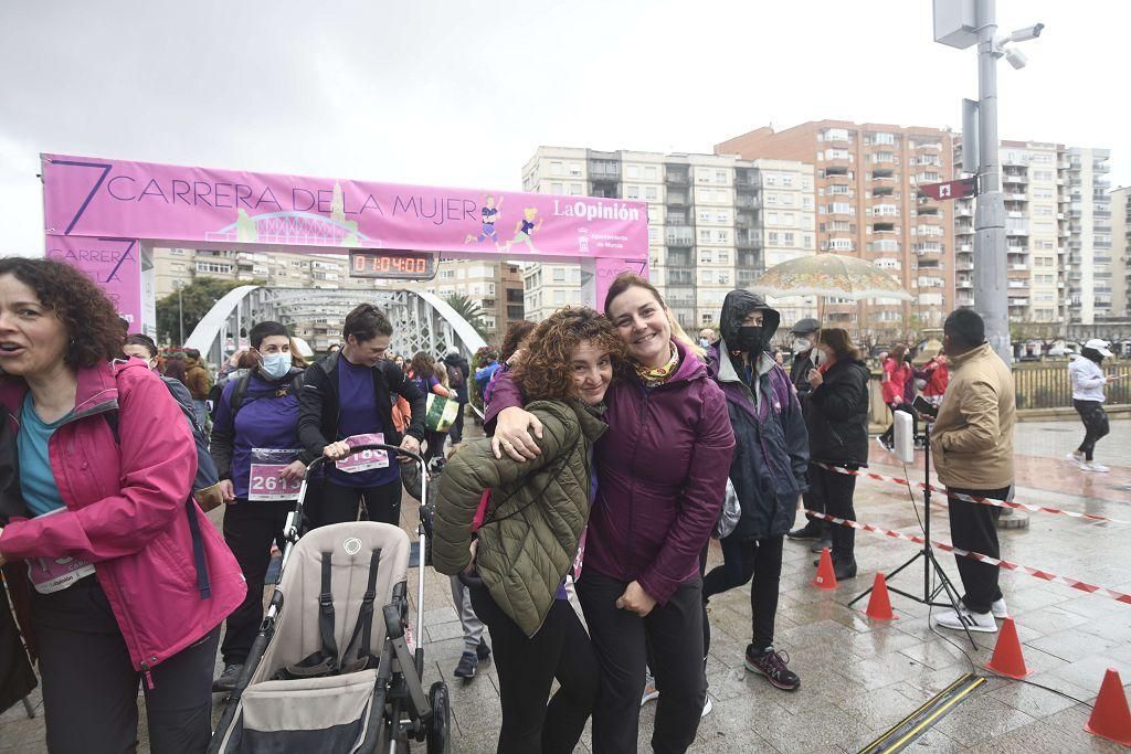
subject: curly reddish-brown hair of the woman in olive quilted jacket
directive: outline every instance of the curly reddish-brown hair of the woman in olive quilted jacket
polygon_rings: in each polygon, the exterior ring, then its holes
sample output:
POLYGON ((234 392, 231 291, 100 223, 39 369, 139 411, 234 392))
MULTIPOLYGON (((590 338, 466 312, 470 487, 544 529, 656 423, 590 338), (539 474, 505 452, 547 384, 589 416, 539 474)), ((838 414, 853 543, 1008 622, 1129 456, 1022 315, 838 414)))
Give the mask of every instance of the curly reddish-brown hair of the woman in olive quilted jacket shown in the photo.
POLYGON ((568 367, 573 349, 582 340, 610 355, 614 376, 625 373, 628 353, 613 323, 588 306, 567 306, 534 328, 524 358, 515 365, 515 381, 528 400, 577 397, 568 367))

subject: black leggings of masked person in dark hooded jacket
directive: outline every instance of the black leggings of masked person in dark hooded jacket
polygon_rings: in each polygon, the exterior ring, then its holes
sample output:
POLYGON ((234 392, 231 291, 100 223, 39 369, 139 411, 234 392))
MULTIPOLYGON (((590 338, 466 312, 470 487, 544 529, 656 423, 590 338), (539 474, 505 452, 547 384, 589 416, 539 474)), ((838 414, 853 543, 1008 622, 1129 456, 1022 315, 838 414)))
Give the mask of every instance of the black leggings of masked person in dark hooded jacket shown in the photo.
MULTIPOLYGON (((711 569, 703 577, 703 605, 715 595, 750 586, 750 610, 752 615, 751 643, 754 649, 765 650, 774 644, 774 618, 777 616, 778 587, 782 581, 782 543, 784 537, 737 541, 734 537, 720 540, 723 565, 711 569)), ((702 569, 707 566, 707 548, 700 556, 702 569)), ((703 655, 710 650, 710 625, 703 616, 703 655)))

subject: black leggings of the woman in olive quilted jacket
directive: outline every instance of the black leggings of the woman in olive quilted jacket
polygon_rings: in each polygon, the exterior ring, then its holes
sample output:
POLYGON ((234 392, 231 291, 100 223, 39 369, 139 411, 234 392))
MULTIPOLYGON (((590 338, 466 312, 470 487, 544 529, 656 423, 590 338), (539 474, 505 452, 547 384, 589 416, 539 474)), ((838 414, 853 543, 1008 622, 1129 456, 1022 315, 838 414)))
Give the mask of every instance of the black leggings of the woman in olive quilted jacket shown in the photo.
POLYGON ((555 599, 542 627, 527 636, 486 587, 468 590, 475 614, 491 632, 499 671, 499 754, 572 752, 597 701, 601 670, 569 600, 555 599), (561 686, 551 697, 554 678, 561 686))

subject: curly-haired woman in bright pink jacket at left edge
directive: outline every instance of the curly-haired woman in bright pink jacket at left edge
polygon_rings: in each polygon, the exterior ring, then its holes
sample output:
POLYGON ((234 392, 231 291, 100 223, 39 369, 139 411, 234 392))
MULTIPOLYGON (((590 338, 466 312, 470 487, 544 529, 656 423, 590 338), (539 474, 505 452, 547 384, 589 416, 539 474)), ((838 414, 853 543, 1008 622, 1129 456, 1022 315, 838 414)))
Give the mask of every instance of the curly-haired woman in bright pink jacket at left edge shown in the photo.
POLYGON ((204 752, 219 624, 247 587, 190 497, 181 409, 144 362, 111 361, 121 344, 88 277, 0 260, 0 405, 16 432, 0 463, 18 461, 23 492, 0 501, 0 564, 29 592, 53 754, 133 751, 143 682, 153 751, 204 752))

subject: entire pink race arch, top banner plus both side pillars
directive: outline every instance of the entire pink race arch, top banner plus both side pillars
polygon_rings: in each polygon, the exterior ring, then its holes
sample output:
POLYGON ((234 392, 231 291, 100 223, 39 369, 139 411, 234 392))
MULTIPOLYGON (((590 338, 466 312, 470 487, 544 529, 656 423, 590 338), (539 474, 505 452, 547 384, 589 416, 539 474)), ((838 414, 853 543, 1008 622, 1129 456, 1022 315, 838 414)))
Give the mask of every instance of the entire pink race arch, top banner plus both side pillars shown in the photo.
MULTIPOLYGON (((603 301, 619 272, 648 272, 648 213, 639 201, 67 155, 41 155, 41 162, 46 254, 92 275, 131 330, 150 335, 156 324, 154 246, 329 254, 381 250, 377 276, 390 263, 396 268, 397 253, 416 260, 430 254, 431 270, 441 258, 576 262, 582 271, 576 301, 590 306, 603 301)), ((398 277, 405 277, 400 269, 398 277)), ((287 298, 278 295, 279 302, 287 298)), ((347 295, 357 301, 380 294, 347 295)), ((254 297, 266 302, 269 293, 254 297)), ((426 294, 418 301, 440 318, 439 329, 455 328, 448 320, 454 312, 444 312, 442 302, 426 294)), ((216 315, 226 320, 228 314, 216 315)))

